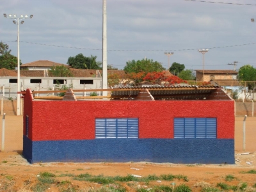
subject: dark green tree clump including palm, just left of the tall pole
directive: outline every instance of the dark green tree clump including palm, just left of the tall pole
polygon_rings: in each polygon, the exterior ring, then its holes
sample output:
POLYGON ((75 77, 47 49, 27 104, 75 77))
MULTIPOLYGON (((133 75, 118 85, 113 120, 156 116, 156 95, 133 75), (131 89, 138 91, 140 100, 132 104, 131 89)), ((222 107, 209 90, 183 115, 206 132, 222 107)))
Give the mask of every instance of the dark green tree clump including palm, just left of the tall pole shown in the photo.
POLYGON ((87 69, 100 69, 102 63, 96 61, 97 56, 86 57, 82 53, 77 54, 74 57, 69 57, 67 64, 72 68, 87 68, 87 69))

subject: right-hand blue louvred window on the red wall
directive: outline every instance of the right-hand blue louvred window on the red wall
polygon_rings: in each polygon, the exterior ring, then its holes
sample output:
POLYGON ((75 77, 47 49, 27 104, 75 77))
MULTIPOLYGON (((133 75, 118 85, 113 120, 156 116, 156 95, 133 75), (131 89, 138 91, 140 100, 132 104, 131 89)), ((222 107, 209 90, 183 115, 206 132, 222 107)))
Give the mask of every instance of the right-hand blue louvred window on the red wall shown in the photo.
POLYGON ((174 138, 216 138, 216 118, 174 118, 174 138))

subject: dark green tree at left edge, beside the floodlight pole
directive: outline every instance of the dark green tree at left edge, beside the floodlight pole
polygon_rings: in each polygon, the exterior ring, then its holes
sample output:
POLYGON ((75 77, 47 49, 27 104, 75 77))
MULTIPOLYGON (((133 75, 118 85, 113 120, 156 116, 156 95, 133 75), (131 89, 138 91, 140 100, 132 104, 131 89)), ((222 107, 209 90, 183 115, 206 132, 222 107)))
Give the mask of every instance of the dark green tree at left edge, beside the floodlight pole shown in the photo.
MULTIPOLYGON (((11 54, 12 50, 8 50, 9 46, 0 42, 0 68, 15 69, 18 59, 11 54)), ((20 62, 20 65, 22 63, 20 62)))

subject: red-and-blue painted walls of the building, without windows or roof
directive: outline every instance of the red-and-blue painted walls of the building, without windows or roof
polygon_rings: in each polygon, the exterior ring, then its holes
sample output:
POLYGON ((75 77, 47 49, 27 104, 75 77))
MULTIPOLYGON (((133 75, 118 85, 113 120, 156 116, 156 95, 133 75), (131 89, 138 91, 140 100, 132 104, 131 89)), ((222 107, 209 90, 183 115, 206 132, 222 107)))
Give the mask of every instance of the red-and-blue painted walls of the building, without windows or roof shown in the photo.
POLYGON ((234 163, 233 100, 40 101, 27 90, 24 106, 23 155, 31 163, 234 163), (217 118, 217 138, 174 139, 179 117, 217 118), (139 137, 95 139, 95 118, 138 118, 139 137))

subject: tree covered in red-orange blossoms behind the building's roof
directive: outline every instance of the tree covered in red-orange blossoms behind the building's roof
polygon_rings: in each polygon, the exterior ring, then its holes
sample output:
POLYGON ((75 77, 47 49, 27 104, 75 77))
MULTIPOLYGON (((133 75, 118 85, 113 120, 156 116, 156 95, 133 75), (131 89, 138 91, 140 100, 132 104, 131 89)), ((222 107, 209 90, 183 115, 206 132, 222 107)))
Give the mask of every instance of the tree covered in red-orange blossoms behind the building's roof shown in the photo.
POLYGON ((177 76, 166 76, 166 72, 151 72, 143 77, 144 81, 149 81, 153 84, 159 85, 172 85, 179 83, 187 83, 187 81, 180 79, 177 76))

